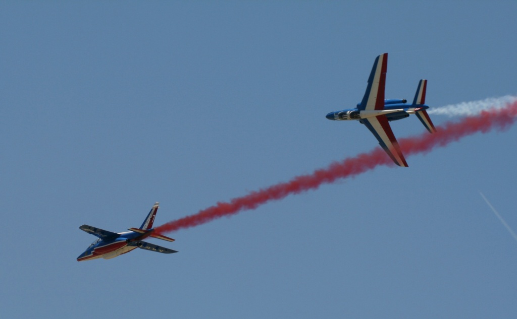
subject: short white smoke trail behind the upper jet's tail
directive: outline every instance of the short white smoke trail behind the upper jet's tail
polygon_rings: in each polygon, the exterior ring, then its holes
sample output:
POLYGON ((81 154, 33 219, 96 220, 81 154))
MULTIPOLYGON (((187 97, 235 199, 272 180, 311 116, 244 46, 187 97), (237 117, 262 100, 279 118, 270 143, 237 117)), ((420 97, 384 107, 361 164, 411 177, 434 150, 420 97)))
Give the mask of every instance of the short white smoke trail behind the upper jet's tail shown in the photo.
POLYGON ((506 105, 517 101, 514 95, 505 95, 500 98, 488 98, 479 101, 462 102, 459 104, 450 104, 442 107, 430 108, 429 114, 454 116, 473 116, 481 113, 482 110, 503 108, 506 105))

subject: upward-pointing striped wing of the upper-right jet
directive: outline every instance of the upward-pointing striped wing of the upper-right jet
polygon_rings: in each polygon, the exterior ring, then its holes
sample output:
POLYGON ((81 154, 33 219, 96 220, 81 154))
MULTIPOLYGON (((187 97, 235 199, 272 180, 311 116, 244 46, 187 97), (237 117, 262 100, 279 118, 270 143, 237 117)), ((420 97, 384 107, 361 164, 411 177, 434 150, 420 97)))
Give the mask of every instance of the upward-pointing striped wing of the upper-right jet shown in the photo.
POLYGON ((364 92, 364 97, 358 107, 359 110, 384 109, 384 87, 386 85, 387 69, 388 54, 383 53, 373 63, 366 92, 364 92))

